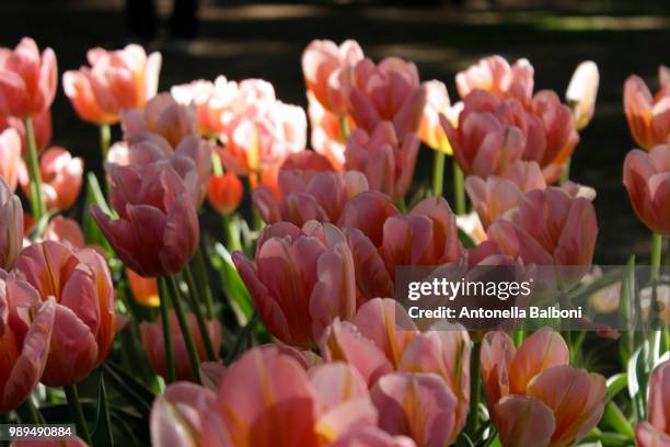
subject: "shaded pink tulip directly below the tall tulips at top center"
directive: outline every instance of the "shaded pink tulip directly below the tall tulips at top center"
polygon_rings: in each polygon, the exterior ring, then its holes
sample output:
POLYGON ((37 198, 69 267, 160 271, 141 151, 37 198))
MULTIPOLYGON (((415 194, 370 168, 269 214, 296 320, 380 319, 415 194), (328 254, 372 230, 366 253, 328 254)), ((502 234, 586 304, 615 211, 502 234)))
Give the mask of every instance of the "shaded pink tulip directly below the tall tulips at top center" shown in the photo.
POLYGON ((345 169, 363 172, 371 190, 402 198, 412 186, 419 144, 416 134, 398 138, 390 122, 380 122, 370 134, 355 129, 347 140, 345 169))

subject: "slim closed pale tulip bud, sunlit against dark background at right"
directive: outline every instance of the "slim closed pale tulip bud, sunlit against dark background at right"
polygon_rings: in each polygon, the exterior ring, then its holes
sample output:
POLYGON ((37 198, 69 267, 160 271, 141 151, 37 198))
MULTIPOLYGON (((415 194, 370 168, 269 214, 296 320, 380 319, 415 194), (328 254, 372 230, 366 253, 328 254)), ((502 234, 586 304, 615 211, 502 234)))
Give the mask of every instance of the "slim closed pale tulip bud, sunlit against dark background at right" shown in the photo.
POLYGON ((577 130, 584 129, 593 117, 599 83, 600 73, 596 62, 586 60, 577 66, 565 92, 565 99, 573 108, 577 130))

